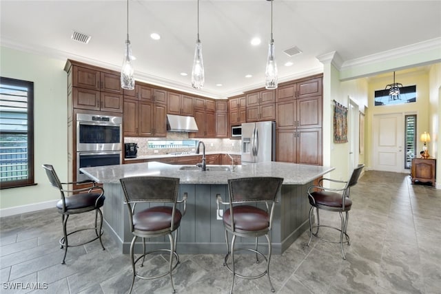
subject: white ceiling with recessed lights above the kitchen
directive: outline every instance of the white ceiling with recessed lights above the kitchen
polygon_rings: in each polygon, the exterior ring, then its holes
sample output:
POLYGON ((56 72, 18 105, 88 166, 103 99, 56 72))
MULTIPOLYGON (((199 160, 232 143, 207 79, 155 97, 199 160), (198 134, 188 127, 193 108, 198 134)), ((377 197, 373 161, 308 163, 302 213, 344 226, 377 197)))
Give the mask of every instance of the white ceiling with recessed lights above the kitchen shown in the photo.
MULTIPOLYGON (((322 72, 316 56, 329 52, 350 63, 441 37, 441 1, 274 0, 273 5, 279 82, 322 72), (283 53, 293 46, 302 53, 283 53), (284 66, 287 61, 294 65, 284 66)), ((126 9, 125 0, 0 0, 1 45, 119 71, 126 9), (74 30, 90 34, 90 43, 72 41, 74 30)), ((214 98, 263 87, 271 3, 200 1, 203 90, 193 90, 190 76, 180 75, 192 70, 196 9, 196 0, 130 0, 135 78, 214 98), (152 32, 161 39, 150 39, 152 32), (254 36, 262 39, 260 45, 250 44, 254 36)))

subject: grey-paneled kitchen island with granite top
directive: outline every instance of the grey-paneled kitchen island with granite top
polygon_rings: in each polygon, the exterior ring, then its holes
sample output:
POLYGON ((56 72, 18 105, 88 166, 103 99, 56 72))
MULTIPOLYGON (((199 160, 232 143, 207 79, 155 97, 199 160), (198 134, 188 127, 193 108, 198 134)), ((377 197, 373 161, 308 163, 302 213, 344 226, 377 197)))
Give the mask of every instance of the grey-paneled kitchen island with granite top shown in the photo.
MULTIPOLYGON (((229 167, 229 166, 224 166, 229 167)), ((130 251, 130 231, 127 206, 120 178, 133 176, 170 176, 180 178, 179 196, 187 193, 187 213, 178 229, 179 253, 224 253, 225 230, 219 220, 216 195, 228 199, 228 179, 250 176, 275 176, 284 178, 274 211, 271 240, 273 253, 281 254, 289 245, 309 228, 309 202, 307 188, 314 180, 334 170, 331 167, 297 165, 285 162, 260 162, 235 166, 232 171, 222 169, 201 171, 183 170, 182 165, 167 165, 161 162, 144 162, 130 165, 85 167, 81 171, 96 182, 101 182, 105 191, 103 207, 105 233, 114 238, 123 253, 130 251)), ((185 167, 184 167, 185 168, 185 167)), ((180 207, 181 211, 183 207, 180 207)), ((227 209, 227 207, 220 207, 227 209)), ((150 249, 169 246, 168 239, 156 238, 149 243, 150 249)), ((254 244, 254 240, 240 238, 238 243, 254 244), (240 242, 239 242, 240 241, 240 242)), ((265 242, 261 242, 265 244, 265 242)), ((240 245, 238 245, 240 246, 240 245)), ((135 252, 141 252, 141 241, 135 252)))

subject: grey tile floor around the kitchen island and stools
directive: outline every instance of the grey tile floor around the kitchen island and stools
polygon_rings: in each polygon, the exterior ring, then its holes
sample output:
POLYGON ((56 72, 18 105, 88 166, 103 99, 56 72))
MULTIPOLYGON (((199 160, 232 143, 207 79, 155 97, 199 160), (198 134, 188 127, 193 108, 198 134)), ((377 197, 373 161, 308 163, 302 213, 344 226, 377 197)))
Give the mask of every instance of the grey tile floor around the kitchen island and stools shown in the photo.
MULTIPOLYGON (((407 174, 366 171, 351 196, 347 260, 337 244, 313 239, 306 246, 307 231, 283 255, 271 258, 276 293, 441 293, 441 190, 411 185, 407 174)), ((338 214, 320 216, 322 222, 338 220, 338 214)), ((81 227, 92 217, 74 222, 81 227)), ((56 209, 0 222, 0 293, 127 293, 130 288, 129 256, 116 250, 105 233, 105 251, 97 241, 75 247, 63 265, 56 209)), ((223 254, 180 257, 174 271, 176 293, 228 293, 231 276, 223 267, 223 254)), ((155 255, 145 269, 163 262, 155 255)), ((133 293, 171 292, 170 280, 163 277, 136 279, 133 293)), ((271 293, 266 277, 236 279, 234 292, 271 293)))

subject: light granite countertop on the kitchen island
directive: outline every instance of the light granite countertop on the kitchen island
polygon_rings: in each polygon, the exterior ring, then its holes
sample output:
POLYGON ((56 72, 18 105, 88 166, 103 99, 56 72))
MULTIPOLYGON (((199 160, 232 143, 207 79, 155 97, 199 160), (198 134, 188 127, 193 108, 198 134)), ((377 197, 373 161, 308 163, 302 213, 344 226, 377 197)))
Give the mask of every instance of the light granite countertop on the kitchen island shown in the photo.
MULTIPOLYGON (((234 171, 180 170, 189 165, 168 165, 161 162, 132 163, 130 165, 107 165, 83 167, 80 170, 96 182, 119 183, 120 178, 133 176, 169 176, 181 179, 181 184, 227 185, 229 178, 274 176, 284 178, 285 185, 305 185, 311 180, 334 170, 334 167, 298 165, 287 162, 259 162, 235 166, 234 171)), ((194 165, 190 165, 194 166, 194 165)), ((207 167, 210 167, 207 165, 207 167)), ((229 167, 225 165, 224 167, 229 167)))

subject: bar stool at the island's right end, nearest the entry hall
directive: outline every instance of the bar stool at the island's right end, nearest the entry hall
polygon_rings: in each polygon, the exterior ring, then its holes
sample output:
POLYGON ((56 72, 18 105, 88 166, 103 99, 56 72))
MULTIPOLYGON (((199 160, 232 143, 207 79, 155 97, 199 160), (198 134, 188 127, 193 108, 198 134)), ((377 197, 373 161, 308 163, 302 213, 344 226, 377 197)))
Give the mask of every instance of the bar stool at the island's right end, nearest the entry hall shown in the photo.
POLYGON ((349 235, 347 234, 347 222, 349 220, 349 211, 352 207, 352 200, 349 198, 349 192, 351 191, 351 187, 355 186, 358 182, 358 178, 360 178, 361 171, 365 167, 365 165, 358 165, 356 169, 353 170, 351 174, 351 178, 348 181, 342 180, 332 180, 329 178, 322 178, 318 182, 318 186, 311 186, 308 188, 308 198, 309 204, 311 204, 311 209, 309 209, 309 242, 307 246, 311 243, 312 236, 316 236, 323 241, 331 242, 335 244, 340 244, 343 259, 346 259, 345 250, 343 249, 343 244, 347 243, 350 245, 349 235), (345 187, 342 189, 331 189, 323 187, 323 182, 327 180, 329 182, 337 182, 340 184, 345 184, 345 187), (316 208, 317 213, 317 225, 313 226, 312 224, 312 216, 314 214, 314 207, 316 208), (320 215, 318 213, 319 209, 323 209, 326 211, 334 211, 340 214, 341 226, 333 227, 325 224, 320 224, 320 215), (345 216, 343 216, 343 212, 345 216), (322 236, 318 235, 318 229, 320 227, 327 227, 330 229, 335 229, 340 231, 340 240, 338 242, 327 240, 322 236), (313 229, 316 228, 316 233, 313 233, 313 229), (343 241, 343 237, 345 237, 345 241, 343 241))

